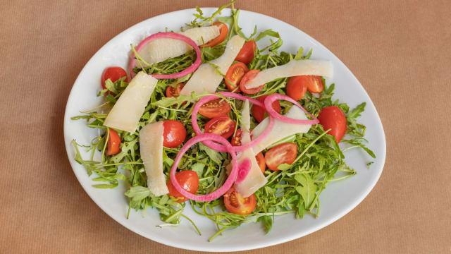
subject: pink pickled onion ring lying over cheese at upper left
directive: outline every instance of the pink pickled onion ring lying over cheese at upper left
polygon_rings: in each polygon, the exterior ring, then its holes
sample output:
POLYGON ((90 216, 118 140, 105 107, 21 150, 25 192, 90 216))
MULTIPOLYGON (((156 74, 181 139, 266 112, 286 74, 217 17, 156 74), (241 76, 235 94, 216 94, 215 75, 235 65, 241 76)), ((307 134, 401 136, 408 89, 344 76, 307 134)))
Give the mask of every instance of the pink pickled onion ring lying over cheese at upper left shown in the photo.
MULTIPOLYGON (((140 44, 137 45, 137 47, 135 48, 136 52, 139 52, 140 49, 142 49, 142 47, 144 47, 147 44, 147 42, 150 42, 151 40, 155 40, 155 39, 159 39, 159 38, 171 38, 171 39, 181 40, 183 42, 186 42, 196 52, 196 61, 194 61, 194 63, 192 63, 192 65, 190 67, 186 68, 183 71, 180 71, 179 73, 167 74, 167 75, 152 75, 154 78, 159 78, 159 79, 161 79, 161 78, 164 78, 164 79, 181 78, 185 75, 192 73, 193 71, 196 71, 197 67, 200 66, 200 63, 202 62, 202 57, 201 57, 202 53, 200 52, 199 46, 197 46, 196 42, 191 40, 190 37, 186 37, 185 35, 180 35, 175 32, 157 32, 153 35, 150 35, 149 37, 144 39, 142 42, 140 42, 140 44)), ((137 61, 137 59, 135 59, 135 57, 132 57, 132 59, 130 60, 130 65, 128 67, 128 71, 130 71, 130 78, 133 78, 135 76, 135 73, 133 72, 133 68, 135 68, 135 66, 136 66, 136 61, 137 61)))

